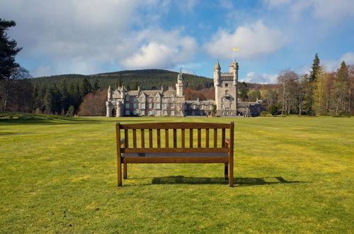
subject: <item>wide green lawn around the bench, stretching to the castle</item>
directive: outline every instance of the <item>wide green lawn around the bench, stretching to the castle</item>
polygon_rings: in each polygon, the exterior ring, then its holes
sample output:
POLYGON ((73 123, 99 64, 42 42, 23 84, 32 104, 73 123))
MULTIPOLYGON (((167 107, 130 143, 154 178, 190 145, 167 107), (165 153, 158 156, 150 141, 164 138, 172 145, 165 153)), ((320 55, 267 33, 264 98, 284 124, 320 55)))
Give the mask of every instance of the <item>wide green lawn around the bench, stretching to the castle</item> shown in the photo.
POLYGON ((354 118, 0 121, 0 233, 353 233, 354 118), (115 121, 235 121, 223 165, 132 165, 115 121))

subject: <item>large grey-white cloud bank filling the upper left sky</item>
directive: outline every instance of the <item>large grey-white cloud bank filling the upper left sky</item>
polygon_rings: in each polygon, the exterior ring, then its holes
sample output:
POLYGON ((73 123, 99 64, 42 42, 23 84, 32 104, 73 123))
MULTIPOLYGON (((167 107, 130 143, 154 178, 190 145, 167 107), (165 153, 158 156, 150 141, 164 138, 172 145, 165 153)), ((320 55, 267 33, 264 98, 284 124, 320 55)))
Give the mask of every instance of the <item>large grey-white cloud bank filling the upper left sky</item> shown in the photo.
POLYGON ((170 2, 5 1, 0 14, 17 23, 10 35, 23 47, 17 58, 46 60, 47 67, 37 65, 30 71, 34 76, 48 72, 88 74, 101 72, 96 69, 103 63, 120 69, 120 65, 167 68, 164 66, 187 62, 198 47, 194 38, 182 36, 178 30, 139 30, 159 21, 170 2))

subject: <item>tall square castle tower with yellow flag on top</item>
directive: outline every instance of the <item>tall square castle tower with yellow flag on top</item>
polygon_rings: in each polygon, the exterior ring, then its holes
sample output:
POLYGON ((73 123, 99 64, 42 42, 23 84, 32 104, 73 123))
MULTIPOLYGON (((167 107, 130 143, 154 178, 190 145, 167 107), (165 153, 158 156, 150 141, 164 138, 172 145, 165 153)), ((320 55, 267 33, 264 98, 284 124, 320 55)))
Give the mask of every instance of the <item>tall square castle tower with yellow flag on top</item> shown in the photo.
POLYGON ((214 69, 215 103, 218 116, 237 116, 237 82, 239 65, 229 63, 229 72, 220 72, 219 62, 214 69))

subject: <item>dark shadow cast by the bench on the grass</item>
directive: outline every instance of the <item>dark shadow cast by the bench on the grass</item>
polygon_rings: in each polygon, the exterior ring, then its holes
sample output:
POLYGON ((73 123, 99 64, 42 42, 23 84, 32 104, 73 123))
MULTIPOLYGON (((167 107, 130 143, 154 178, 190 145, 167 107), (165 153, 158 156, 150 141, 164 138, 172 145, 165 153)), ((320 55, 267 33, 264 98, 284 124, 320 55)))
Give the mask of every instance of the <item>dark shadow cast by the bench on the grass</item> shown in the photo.
MULTIPOLYGON (((236 177, 234 178, 234 186, 255 186, 265 184, 292 184, 292 183, 307 183, 299 181, 287 181, 282 177, 236 177)), ((228 184, 224 178, 209 178, 209 177, 155 177, 152 179, 152 184, 228 184)))

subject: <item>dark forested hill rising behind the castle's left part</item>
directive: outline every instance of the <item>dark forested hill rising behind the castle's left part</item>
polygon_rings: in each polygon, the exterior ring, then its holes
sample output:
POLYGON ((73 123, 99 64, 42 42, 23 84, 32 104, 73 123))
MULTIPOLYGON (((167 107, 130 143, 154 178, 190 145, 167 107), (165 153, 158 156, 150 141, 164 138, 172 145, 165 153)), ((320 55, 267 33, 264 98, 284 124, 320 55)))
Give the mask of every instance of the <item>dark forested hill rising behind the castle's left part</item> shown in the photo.
MULTIPOLYGON (((68 82, 80 82, 86 77, 91 84, 98 79, 98 85, 101 89, 108 88, 108 86, 115 87, 118 82, 127 88, 132 89, 135 84, 139 85, 141 89, 167 89, 169 86, 175 86, 178 72, 171 72, 163 69, 140 69, 140 70, 125 70, 120 72, 108 72, 101 74, 62 74, 50 77, 38 77, 30 79, 34 86, 40 87, 43 83, 49 86, 62 82, 67 79, 68 82), (120 80, 120 81, 119 81, 120 80)), ((183 74, 185 78, 183 83, 185 87, 191 89, 202 89, 212 87, 213 80, 207 77, 199 77, 193 74, 183 74)))

